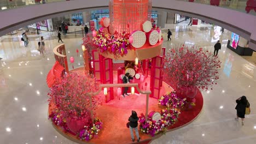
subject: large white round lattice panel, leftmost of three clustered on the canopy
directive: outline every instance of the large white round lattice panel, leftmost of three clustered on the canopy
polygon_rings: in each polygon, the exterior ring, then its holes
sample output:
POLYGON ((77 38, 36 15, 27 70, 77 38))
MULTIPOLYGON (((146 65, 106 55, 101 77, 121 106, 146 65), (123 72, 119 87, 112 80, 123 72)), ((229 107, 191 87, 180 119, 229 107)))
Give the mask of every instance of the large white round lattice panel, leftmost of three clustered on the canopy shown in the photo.
POLYGON ((146 34, 142 31, 134 31, 132 32, 132 46, 135 48, 142 47, 146 43, 146 34))

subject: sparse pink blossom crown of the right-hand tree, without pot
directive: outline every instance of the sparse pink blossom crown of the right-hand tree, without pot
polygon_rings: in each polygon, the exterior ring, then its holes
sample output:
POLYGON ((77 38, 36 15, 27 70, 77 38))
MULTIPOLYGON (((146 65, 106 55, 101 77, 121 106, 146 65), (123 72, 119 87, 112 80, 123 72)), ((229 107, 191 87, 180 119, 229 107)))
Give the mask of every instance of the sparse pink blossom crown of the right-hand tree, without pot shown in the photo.
POLYGON ((172 48, 165 57, 165 79, 179 91, 195 87, 207 91, 217 85, 220 63, 218 57, 202 48, 172 48))

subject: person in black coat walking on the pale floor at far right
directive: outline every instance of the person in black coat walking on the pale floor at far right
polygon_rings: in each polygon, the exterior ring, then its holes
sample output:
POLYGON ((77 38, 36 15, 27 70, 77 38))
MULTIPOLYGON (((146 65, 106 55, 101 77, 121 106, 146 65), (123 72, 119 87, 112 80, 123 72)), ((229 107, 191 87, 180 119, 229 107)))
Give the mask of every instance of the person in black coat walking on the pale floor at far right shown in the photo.
POLYGON ((249 101, 247 100, 246 96, 242 96, 236 100, 236 121, 238 121, 238 118, 242 119, 242 125, 244 125, 243 120, 245 119, 245 111, 246 107, 249 107, 249 101))

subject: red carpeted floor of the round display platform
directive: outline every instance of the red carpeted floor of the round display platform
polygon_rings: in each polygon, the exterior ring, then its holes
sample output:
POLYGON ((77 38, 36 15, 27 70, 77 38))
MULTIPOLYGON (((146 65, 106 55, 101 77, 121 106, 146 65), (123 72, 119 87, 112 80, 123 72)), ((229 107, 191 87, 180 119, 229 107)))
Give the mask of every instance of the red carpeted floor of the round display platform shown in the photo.
MULTIPOLYGON (((83 68, 75 69, 74 71, 80 71, 83 68)), ((117 81, 117 72, 114 71, 114 82, 117 81)), ((148 77, 148 81, 150 78, 148 77)), ((161 88, 161 94, 172 91, 165 82, 161 88)), ((116 92, 116 91, 115 91, 116 92)), ((115 94, 117 95, 117 94, 115 94)), ((200 92, 196 95, 196 106, 190 110, 181 111, 178 121, 169 128, 169 131, 184 127, 184 125, 192 122, 201 112, 203 106, 203 98, 200 92)), ((103 99, 103 98, 102 98, 103 99)), ((49 107, 49 110, 51 107, 49 107)), ((97 110, 97 117, 102 119, 103 128, 98 134, 98 137, 90 140, 89 143, 132 143, 129 129, 126 128, 127 119, 131 115, 131 110, 140 113, 146 113, 146 95, 129 95, 126 98, 116 96, 114 100, 109 103, 104 103, 97 110), (119 100, 120 98, 120 100, 119 100)), ((149 111, 160 111, 158 107, 158 100, 149 98, 149 111)), ((139 132, 141 137, 140 143, 149 143, 152 139, 159 137, 151 137, 150 135, 139 132)), ((66 136, 67 137, 67 136, 66 136)), ((84 143, 86 141, 80 142, 84 143)))

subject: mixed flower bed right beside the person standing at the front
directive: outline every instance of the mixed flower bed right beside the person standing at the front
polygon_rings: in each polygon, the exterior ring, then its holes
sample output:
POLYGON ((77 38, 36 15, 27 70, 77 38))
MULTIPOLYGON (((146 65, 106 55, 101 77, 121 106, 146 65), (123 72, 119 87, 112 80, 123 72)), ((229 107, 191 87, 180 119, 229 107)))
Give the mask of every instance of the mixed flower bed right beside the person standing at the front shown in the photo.
POLYGON ((158 133, 165 133, 167 128, 170 125, 173 125, 179 116, 180 112, 175 109, 163 109, 161 110, 161 119, 156 122, 153 121, 152 117, 148 117, 148 121, 146 122, 146 118, 143 113, 139 116, 139 129, 142 133, 150 134, 151 136, 155 136, 158 133))

